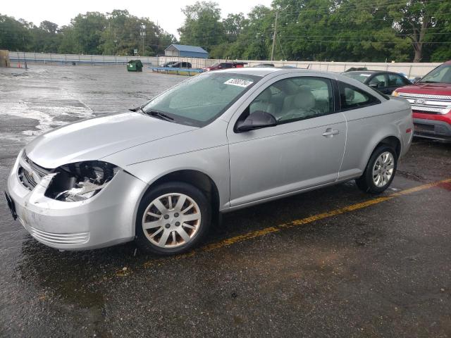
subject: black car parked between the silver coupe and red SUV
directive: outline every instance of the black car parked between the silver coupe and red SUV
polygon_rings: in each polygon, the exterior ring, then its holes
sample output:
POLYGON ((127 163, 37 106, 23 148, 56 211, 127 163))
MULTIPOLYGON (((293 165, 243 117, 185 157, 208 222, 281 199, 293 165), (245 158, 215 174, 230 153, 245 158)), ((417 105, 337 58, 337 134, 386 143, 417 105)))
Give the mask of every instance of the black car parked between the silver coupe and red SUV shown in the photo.
POLYGON ((383 94, 392 94, 395 89, 412 84, 404 75, 379 70, 347 71, 342 75, 369 85, 383 94))

